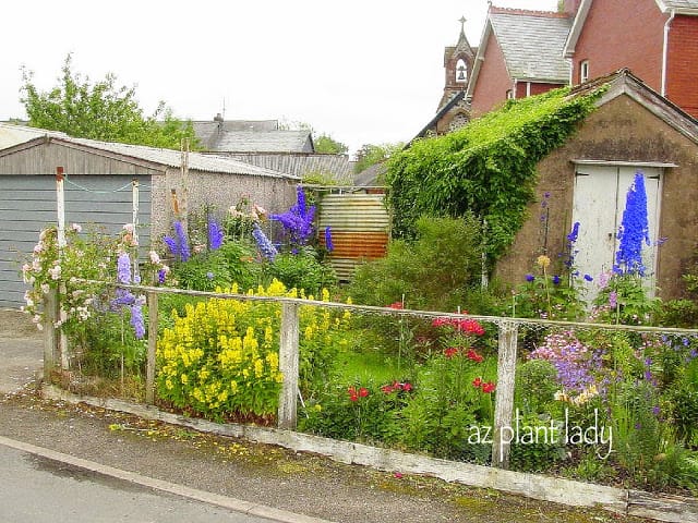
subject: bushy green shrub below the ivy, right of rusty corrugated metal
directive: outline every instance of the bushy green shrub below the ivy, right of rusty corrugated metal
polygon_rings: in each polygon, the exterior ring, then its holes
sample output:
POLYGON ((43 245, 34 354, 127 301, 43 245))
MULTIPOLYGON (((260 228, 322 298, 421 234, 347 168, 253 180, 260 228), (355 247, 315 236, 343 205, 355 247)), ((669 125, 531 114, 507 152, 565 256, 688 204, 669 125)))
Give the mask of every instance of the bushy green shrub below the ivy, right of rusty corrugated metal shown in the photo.
POLYGON ((349 294, 356 302, 456 311, 480 280, 482 233, 471 214, 464 218, 421 218, 417 240, 397 240, 385 258, 357 268, 349 294))

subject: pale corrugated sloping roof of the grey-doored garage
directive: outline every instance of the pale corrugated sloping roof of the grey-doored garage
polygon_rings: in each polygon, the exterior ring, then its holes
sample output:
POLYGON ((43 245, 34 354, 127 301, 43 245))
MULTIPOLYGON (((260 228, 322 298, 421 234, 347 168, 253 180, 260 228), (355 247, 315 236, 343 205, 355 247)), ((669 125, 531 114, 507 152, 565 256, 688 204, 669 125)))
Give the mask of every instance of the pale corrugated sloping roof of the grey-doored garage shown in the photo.
MULTIPOLYGON (((117 144, 111 142, 98 142, 87 138, 59 137, 62 142, 84 145, 94 149, 105 150, 117 155, 129 156, 153 163, 167 167, 180 167, 182 155, 179 150, 158 149, 143 145, 117 144)), ((287 174, 270 169, 245 163, 230 158, 215 155, 204 155, 201 153, 190 153, 188 159, 189 169, 205 172, 221 172, 226 174, 248 174, 252 177, 272 177, 297 179, 292 174, 287 174)))

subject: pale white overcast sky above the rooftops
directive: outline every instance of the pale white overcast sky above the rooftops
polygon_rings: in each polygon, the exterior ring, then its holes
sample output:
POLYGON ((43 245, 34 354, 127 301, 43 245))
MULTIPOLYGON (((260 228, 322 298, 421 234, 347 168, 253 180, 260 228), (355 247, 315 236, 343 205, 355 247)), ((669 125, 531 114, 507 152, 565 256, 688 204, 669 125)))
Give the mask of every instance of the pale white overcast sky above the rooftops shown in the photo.
MULTIPOLYGON (((494 0, 555 10, 556 0, 494 0)), ((94 0, 3 2, 0 120, 25 118, 25 65, 47 90, 73 71, 135 85, 147 113, 305 122, 347 144, 407 142, 434 115, 444 47, 465 16, 472 46, 486 0, 94 0)))

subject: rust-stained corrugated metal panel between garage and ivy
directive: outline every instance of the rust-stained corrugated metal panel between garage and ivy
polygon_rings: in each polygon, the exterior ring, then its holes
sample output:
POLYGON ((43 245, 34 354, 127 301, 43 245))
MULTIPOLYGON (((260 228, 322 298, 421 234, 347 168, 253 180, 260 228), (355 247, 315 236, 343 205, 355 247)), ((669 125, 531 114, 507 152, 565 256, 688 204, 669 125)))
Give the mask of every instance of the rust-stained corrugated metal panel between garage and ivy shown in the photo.
POLYGON ((363 260, 384 257, 390 235, 385 194, 325 194, 318 202, 320 242, 325 228, 332 230, 330 263, 341 281, 351 278, 363 260))

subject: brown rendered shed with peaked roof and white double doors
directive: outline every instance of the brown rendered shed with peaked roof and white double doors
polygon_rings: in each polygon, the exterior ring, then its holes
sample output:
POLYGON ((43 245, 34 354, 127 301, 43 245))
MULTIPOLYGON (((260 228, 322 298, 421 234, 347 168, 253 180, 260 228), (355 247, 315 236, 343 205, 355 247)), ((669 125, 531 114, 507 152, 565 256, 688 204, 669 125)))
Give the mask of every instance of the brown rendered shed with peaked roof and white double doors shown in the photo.
POLYGON ((658 295, 675 297, 698 245, 698 121, 628 70, 582 84, 571 96, 600 87, 597 109, 539 162, 538 202, 496 272, 522 281, 539 254, 565 251, 575 222, 577 268, 592 277, 610 270, 627 190, 641 172, 651 240, 646 266, 658 295))

